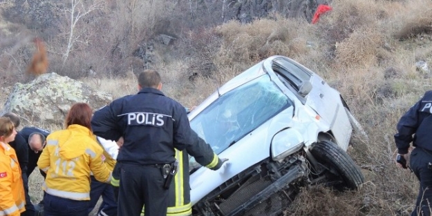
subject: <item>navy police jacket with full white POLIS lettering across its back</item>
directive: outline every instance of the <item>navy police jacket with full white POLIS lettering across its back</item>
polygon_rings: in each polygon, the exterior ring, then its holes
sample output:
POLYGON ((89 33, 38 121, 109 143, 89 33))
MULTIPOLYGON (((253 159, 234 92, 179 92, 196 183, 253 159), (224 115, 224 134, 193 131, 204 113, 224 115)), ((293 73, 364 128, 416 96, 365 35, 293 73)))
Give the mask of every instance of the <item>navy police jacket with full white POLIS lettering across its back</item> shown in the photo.
POLYGON ((173 163, 174 148, 194 145, 185 108, 156 88, 142 88, 97 110, 91 126, 104 139, 124 137, 117 158, 124 164, 173 163))

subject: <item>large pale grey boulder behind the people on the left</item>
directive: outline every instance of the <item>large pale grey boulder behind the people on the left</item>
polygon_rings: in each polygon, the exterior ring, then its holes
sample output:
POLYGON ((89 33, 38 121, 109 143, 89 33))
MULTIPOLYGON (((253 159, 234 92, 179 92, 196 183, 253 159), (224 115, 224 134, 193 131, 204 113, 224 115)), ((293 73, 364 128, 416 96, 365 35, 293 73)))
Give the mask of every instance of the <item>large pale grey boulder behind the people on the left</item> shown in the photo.
POLYGON ((61 126, 73 104, 86 102, 97 109, 112 99, 111 95, 97 92, 81 81, 52 72, 40 75, 28 84, 15 84, 0 114, 15 112, 21 116, 23 124, 61 126))

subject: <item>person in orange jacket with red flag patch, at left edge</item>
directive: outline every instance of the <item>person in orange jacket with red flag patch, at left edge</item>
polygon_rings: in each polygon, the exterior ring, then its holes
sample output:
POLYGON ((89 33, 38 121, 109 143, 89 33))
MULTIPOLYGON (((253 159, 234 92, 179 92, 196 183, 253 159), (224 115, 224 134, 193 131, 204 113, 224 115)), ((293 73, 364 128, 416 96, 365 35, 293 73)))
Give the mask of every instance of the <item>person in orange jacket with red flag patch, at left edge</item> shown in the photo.
POLYGON ((17 131, 8 117, 0 117, 0 215, 19 216, 26 210, 24 184, 17 154, 8 142, 17 131))

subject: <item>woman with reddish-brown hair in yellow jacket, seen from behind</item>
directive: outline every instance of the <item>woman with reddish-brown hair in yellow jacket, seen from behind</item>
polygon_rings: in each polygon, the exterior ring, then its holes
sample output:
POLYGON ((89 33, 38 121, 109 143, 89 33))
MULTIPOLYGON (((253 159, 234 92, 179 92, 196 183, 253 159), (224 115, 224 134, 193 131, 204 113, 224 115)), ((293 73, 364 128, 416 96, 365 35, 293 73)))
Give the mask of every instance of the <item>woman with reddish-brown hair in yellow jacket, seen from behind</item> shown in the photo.
POLYGON ((46 137, 46 147, 37 161, 46 172, 42 186, 46 216, 87 216, 91 173, 97 181, 111 181, 111 172, 102 161, 102 147, 91 130, 92 114, 88 104, 74 104, 66 115, 66 129, 46 137))

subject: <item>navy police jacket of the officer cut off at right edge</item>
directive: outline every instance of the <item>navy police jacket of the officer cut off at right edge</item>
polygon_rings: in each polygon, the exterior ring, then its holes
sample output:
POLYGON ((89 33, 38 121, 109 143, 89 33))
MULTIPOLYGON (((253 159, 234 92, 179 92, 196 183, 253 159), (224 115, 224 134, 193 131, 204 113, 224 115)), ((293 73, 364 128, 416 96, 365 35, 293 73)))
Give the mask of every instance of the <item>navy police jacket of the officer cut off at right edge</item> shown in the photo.
POLYGON ((399 154, 408 153, 409 144, 432 152, 432 91, 427 91, 397 123, 395 142, 399 154), (414 136, 413 136, 414 135, 414 136))

